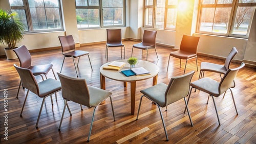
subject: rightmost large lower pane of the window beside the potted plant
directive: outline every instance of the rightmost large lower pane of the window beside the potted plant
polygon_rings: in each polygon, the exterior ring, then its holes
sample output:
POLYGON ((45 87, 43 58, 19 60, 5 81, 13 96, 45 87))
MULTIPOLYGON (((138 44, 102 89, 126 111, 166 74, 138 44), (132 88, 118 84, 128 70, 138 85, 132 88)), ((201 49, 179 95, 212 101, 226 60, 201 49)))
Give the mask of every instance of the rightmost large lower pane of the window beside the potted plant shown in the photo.
POLYGON ((60 29, 60 15, 58 8, 46 8, 46 19, 48 29, 60 29))

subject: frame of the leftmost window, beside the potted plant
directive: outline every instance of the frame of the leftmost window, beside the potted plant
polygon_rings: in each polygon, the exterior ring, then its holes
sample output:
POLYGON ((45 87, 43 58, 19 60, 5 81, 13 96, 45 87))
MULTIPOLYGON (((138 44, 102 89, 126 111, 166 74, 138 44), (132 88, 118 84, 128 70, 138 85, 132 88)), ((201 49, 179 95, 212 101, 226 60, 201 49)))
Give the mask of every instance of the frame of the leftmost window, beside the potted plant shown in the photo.
MULTIPOLYGON (((25 15, 26 15, 27 24, 28 24, 28 31, 24 31, 23 33, 54 32, 54 31, 62 31, 63 30, 63 21, 62 21, 60 0, 57 0, 57 1, 59 4, 58 9, 59 9, 59 18, 60 18, 61 28, 59 28, 59 29, 44 29, 44 30, 33 30, 32 18, 31 18, 28 1, 29 0, 22 0, 23 6, 11 6, 10 5, 11 10, 25 10, 25 15)), ((44 6, 44 8, 46 8, 46 7, 44 6)))

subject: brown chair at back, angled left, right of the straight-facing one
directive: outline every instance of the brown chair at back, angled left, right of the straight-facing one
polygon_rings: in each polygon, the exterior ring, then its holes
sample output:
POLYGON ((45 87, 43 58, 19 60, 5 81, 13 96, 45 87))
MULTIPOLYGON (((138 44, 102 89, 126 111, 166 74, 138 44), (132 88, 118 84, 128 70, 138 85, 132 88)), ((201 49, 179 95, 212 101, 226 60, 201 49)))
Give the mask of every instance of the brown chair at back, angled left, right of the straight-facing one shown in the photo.
MULTIPOLYGON (((147 46, 143 46, 144 48, 142 48, 142 47, 141 48, 135 47, 136 49, 141 49, 141 56, 143 56, 143 50, 146 50, 146 61, 147 61, 147 50, 148 49, 155 49, 155 52, 156 52, 156 55, 157 55, 157 50, 156 50, 156 35, 157 35, 157 31, 147 31, 147 30, 144 30, 142 42, 137 43, 137 44, 143 44, 143 42, 145 43, 145 41, 148 41, 147 33, 152 33, 154 35, 154 37, 155 37, 153 47, 150 47, 152 44, 150 44, 150 46, 148 46, 148 47, 147 46)), ((134 45, 136 45, 136 44, 134 44, 134 45)), ((134 45, 132 47, 132 57, 133 57, 134 45)), ((157 55, 157 60, 159 60, 158 59, 158 55, 157 55)))

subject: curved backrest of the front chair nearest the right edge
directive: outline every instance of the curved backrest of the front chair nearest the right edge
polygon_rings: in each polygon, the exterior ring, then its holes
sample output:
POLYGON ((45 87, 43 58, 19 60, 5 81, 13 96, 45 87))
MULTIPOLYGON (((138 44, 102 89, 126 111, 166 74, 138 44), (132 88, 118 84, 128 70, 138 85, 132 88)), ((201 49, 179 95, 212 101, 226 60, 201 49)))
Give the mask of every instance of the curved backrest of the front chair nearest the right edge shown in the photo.
POLYGON ((242 62, 241 65, 237 68, 231 68, 227 70, 227 73, 221 79, 219 84, 219 95, 224 93, 227 89, 234 87, 234 78, 236 78, 238 70, 244 67, 245 64, 242 62))

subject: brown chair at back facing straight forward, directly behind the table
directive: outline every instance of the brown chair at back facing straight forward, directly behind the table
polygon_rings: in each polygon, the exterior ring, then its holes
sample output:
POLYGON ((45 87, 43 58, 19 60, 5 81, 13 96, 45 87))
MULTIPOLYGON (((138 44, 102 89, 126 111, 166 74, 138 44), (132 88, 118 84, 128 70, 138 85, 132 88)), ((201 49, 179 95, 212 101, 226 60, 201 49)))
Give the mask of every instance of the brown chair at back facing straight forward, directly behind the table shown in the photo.
POLYGON ((105 58, 107 61, 109 61, 109 47, 120 47, 121 46, 121 59, 122 59, 122 50, 124 53, 124 59, 125 59, 125 46, 122 44, 122 34, 121 34, 121 29, 106 29, 106 51, 105 51, 105 58), (113 35, 114 32, 118 32, 118 38, 120 44, 114 44, 112 43, 112 39, 110 38, 111 35, 113 35), (111 44, 111 46, 110 46, 111 44))

